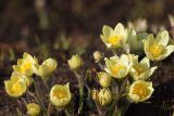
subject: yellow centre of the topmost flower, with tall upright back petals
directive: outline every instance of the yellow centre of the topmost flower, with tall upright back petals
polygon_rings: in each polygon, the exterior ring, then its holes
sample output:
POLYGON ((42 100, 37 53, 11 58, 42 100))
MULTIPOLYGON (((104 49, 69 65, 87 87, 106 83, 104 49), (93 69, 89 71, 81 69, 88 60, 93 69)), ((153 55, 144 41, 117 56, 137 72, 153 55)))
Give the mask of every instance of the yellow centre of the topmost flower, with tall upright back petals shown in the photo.
POLYGON ((108 39, 108 43, 111 43, 111 44, 119 44, 120 41, 122 39, 122 36, 111 36, 109 37, 108 39))

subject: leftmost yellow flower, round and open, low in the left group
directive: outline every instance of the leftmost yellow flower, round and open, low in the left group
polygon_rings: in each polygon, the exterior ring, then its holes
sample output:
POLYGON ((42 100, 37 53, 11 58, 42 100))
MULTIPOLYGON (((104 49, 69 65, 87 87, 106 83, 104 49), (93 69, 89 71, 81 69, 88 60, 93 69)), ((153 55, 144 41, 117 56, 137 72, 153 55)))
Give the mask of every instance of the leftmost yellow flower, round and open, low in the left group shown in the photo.
POLYGON ((4 81, 5 91, 10 96, 21 96, 27 90, 26 82, 21 77, 14 77, 4 81))

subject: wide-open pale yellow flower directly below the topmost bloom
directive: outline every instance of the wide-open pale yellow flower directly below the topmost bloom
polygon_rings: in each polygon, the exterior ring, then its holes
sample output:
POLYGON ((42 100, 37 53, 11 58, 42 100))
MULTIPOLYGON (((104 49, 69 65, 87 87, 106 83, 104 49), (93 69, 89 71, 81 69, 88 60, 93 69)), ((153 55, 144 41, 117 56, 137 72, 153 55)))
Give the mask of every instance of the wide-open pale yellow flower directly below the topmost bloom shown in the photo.
POLYGON ((105 59, 105 72, 114 78, 124 78, 129 72, 129 60, 128 56, 122 54, 121 57, 112 56, 105 59))

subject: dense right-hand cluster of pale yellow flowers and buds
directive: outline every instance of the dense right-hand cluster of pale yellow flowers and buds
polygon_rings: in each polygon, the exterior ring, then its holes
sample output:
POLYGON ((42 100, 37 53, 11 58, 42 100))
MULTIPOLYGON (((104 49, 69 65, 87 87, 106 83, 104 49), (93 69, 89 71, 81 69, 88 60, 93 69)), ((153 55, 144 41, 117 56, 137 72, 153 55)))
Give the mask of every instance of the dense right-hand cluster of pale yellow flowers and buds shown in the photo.
MULTIPOLYGON (((102 89, 95 89, 92 99, 102 106, 110 104, 115 100, 115 91, 113 91, 111 83, 116 81, 119 85, 128 79, 129 81, 124 88, 126 92, 120 98, 126 95, 130 103, 148 100, 154 90, 150 76, 157 69, 157 66, 150 67, 150 61, 162 61, 174 51, 174 46, 169 46, 167 30, 160 31, 154 38, 152 34, 136 34, 134 28, 126 29, 119 23, 114 29, 110 26, 103 26, 101 39, 107 48, 113 51, 114 56, 104 59, 104 68, 97 74, 97 80, 102 89), (138 60, 138 55, 130 53, 140 48, 146 54, 142 60, 138 60), (124 53, 116 53, 119 49, 124 50, 124 53)), ((96 51, 94 59, 96 63, 100 64, 103 54, 96 51)))

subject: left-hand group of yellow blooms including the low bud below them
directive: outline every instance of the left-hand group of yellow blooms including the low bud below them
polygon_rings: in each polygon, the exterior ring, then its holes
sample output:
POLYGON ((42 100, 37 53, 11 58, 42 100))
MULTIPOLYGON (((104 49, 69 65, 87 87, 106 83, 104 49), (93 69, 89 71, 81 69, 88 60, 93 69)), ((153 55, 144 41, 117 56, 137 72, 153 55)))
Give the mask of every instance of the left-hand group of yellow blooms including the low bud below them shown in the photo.
MULTIPOLYGON (((38 60, 28 53, 23 54, 23 59, 17 60, 17 65, 13 65, 13 73, 10 80, 5 80, 5 91, 10 96, 22 96, 28 90, 29 86, 35 81, 33 74, 41 77, 44 81, 55 70, 57 61, 48 59, 38 64, 38 60)), ((50 91, 50 102, 54 106, 63 107, 71 101, 71 92, 69 83, 54 85, 50 91)), ((40 105, 37 103, 27 104, 27 114, 36 116, 40 113, 40 105)))

